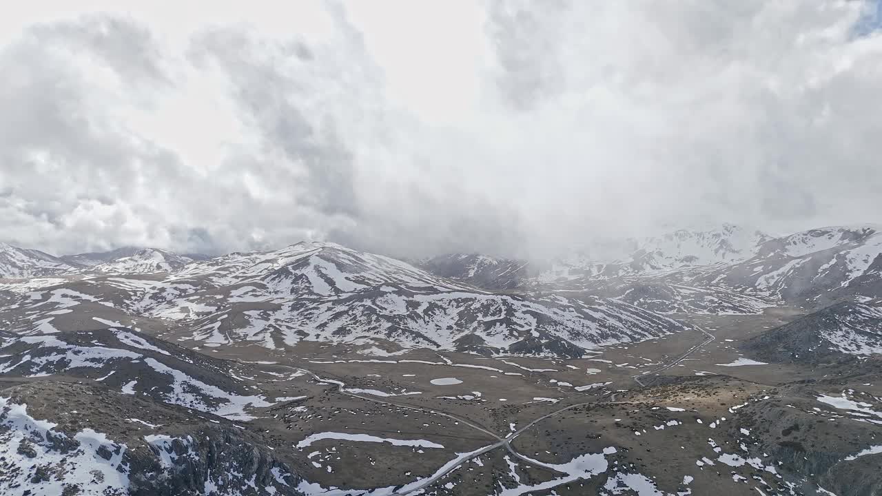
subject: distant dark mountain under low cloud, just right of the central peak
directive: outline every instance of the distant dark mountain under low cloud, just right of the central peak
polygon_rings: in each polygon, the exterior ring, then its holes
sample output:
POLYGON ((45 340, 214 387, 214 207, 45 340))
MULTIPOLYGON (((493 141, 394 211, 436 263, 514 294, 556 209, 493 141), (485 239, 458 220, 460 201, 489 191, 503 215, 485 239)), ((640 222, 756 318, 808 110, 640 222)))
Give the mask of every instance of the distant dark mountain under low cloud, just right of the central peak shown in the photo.
POLYGON ((500 259, 475 253, 451 253, 423 260, 419 266, 431 274, 484 289, 516 289, 527 282, 527 260, 500 259))

